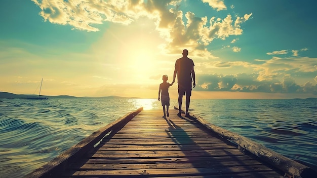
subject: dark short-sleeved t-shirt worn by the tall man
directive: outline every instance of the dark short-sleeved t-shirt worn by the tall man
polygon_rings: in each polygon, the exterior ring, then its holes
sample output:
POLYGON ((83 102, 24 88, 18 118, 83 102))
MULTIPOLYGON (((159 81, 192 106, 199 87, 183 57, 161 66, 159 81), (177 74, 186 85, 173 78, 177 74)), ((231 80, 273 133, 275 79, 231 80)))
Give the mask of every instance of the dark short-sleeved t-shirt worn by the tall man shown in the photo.
POLYGON ((177 82, 178 84, 189 84, 191 85, 191 69, 194 66, 192 59, 182 57, 176 60, 175 68, 177 69, 177 82))

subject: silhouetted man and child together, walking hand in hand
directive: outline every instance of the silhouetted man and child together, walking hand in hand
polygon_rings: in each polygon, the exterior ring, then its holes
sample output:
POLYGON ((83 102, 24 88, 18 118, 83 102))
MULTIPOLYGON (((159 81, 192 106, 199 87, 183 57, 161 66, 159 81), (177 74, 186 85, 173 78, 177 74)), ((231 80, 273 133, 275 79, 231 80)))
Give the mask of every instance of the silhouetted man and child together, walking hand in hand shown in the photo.
POLYGON ((160 84, 159 88, 159 100, 162 102, 164 116, 163 118, 169 117, 169 105, 170 105, 170 96, 169 96, 169 87, 175 83, 175 78, 177 76, 178 83, 178 114, 177 116, 181 117, 183 95, 186 96, 186 110, 185 117, 188 117, 188 109, 191 96, 191 84, 195 88, 195 71, 194 71, 194 62, 192 59, 188 58, 188 50, 183 50, 183 57, 179 58, 175 62, 175 70, 173 75, 173 82, 170 84, 167 82, 168 76, 164 75, 162 77, 163 83, 160 84), (161 95, 162 94, 162 95, 161 95), (160 97, 161 95, 161 97, 160 97))

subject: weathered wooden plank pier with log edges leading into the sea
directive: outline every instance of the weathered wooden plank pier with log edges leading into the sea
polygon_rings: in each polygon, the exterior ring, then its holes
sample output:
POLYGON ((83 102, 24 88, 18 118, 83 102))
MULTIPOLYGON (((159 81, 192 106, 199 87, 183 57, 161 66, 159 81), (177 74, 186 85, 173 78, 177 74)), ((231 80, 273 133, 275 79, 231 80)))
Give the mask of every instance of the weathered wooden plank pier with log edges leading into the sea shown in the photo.
POLYGON ((26 177, 315 177, 309 167, 200 117, 178 117, 177 110, 162 115, 131 112, 26 177), (251 145, 261 150, 252 153, 251 145))

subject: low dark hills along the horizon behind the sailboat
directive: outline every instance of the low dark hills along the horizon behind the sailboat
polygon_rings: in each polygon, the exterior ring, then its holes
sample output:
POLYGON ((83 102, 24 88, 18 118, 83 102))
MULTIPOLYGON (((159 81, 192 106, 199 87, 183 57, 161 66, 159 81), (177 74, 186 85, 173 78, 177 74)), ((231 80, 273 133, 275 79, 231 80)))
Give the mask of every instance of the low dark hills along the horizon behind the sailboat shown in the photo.
MULTIPOLYGON (((34 94, 14 94, 8 92, 1 92, 0 91, 0 98, 8 98, 8 99, 19 99, 19 98, 26 98, 26 97, 36 97, 38 95, 34 94)), ((45 95, 41 95, 45 96, 45 95)), ((47 98, 129 98, 129 99, 139 99, 137 97, 121 97, 121 96, 103 96, 103 97, 76 97, 76 96, 69 96, 69 95, 58 95, 58 96, 45 96, 47 98)))

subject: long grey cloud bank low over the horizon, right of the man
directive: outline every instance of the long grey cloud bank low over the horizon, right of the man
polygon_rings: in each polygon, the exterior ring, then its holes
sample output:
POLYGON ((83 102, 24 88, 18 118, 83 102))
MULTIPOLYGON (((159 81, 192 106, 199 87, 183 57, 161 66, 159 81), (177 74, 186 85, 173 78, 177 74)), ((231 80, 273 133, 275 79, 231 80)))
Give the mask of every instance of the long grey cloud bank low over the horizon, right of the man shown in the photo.
POLYGON ((197 91, 240 91, 264 93, 317 94, 317 85, 310 82, 299 85, 291 76, 279 80, 258 81, 259 74, 240 73, 235 75, 204 74, 197 76, 197 91))

